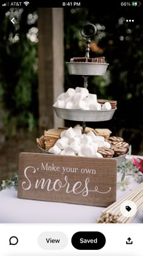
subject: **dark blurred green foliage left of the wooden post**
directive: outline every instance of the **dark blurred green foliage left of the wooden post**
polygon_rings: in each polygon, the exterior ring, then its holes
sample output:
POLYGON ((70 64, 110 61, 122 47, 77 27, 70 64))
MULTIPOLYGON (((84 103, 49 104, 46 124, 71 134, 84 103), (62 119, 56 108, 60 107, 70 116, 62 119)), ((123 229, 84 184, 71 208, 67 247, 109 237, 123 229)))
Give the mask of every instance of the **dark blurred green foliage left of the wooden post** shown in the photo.
POLYGON ((16 127, 27 126, 32 131, 37 123, 38 45, 27 36, 33 27, 27 23, 27 11, 10 9, 0 14, 3 24, 0 27, 0 99, 5 110, 6 135, 15 135, 16 127), (17 15, 15 26, 9 19, 14 13, 17 15))

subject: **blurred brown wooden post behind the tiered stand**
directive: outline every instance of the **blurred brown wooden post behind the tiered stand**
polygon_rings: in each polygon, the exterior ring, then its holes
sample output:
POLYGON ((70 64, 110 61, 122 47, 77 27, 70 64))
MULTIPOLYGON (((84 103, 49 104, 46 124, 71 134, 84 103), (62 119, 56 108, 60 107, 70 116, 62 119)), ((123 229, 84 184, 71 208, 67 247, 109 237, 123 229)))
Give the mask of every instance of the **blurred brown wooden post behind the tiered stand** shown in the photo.
POLYGON ((64 91, 63 10, 38 9, 39 29, 39 129, 64 125, 56 117, 53 103, 64 91))

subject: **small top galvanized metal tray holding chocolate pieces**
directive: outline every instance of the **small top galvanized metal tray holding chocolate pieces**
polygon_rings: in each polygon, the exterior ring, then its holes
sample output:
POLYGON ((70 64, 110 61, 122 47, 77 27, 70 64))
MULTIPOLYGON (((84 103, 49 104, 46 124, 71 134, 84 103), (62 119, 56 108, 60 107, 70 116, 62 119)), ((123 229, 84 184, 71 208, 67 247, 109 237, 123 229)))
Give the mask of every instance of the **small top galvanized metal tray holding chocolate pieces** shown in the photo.
POLYGON ((81 76, 104 76, 108 63, 66 62, 68 73, 81 76))

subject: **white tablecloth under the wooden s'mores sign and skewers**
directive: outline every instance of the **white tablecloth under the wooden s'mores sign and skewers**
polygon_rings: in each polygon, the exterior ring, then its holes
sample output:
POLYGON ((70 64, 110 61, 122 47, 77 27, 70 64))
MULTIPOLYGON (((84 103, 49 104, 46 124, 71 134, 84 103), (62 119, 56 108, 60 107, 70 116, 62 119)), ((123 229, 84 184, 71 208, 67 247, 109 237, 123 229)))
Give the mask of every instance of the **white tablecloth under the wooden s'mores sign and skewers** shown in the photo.
MULTIPOLYGON (((117 200, 138 183, 130 178, 127 190, 117 190, 117 200)), ((19 199, 15 188, 0 192, 0 223, 95 223, 103 207, 19 199)), ((139 212, 132 223, 143 223, 139 212)))

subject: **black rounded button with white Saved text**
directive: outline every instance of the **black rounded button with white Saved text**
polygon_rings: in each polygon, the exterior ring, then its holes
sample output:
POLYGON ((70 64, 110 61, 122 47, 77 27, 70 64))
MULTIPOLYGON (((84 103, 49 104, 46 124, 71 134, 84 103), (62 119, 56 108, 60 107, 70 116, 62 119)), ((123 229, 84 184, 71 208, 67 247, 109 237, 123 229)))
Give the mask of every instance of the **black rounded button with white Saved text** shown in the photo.
POLYGON ((81 231, 72 236, 71 243, 78 250, 99 250, 104 247, 106 239, 101 232, 81 231))

